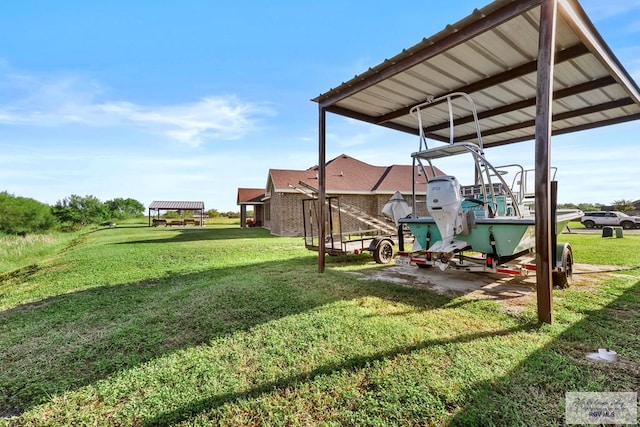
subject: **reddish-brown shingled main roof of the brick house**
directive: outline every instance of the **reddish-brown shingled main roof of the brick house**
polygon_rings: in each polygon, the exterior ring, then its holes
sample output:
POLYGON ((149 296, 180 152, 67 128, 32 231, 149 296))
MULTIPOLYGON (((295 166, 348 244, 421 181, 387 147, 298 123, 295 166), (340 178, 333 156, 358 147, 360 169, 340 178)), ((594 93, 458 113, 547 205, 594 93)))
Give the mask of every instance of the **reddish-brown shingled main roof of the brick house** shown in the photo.
MULTIPOLYGON (((374 166, 346 154, 329 160, 326 165, 326 188, 330 193, 411 193, 412 172, 416 183, 426 179, 411 165, 374 166)), ((436 170, 441 175, 440 170, 436 170)), ((269 180, 276 192, 294 192, 296 188, 318 188, 318 167, 307 170, 270 169, 269 180)))

